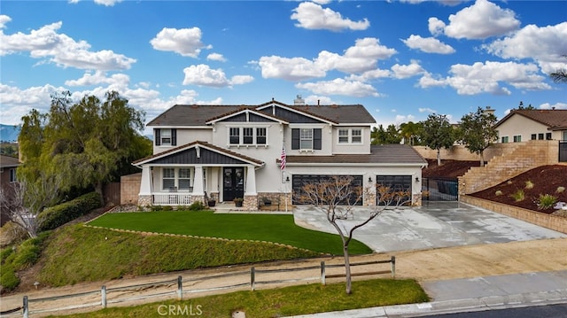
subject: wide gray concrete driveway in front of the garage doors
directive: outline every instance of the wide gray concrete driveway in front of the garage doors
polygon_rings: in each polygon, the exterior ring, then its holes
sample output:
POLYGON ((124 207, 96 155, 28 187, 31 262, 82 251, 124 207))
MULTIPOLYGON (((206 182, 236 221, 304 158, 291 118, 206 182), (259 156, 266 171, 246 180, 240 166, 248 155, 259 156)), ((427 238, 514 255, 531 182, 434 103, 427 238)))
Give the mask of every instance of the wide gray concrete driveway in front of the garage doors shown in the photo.
MULTIPOLYGON (((343 229, 352 229, 368 213, 368 207, 357 207, 353 220, 340 221, 340 224, 343 229)), ((295 206, 293 215, 299 226, 337 233, 327 221, 325 213, 317 211, 314 206, 295 206)), ((424 202, 420 207, 385 210, 369 224, 354 231, 354 238, 375 252, 558 237, 567 235, 459 202, 424 202)))

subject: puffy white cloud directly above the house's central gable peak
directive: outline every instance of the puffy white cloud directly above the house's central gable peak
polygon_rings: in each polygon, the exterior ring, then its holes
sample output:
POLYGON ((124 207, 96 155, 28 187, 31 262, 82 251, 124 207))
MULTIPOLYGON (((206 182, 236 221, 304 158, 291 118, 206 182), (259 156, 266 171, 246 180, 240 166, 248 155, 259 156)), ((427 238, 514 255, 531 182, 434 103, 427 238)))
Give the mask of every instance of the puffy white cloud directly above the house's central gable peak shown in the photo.
POLYGON ((263 78, 302 81, 326 75, 324 70, 307 58, 261 57, 258 65, 263 78))

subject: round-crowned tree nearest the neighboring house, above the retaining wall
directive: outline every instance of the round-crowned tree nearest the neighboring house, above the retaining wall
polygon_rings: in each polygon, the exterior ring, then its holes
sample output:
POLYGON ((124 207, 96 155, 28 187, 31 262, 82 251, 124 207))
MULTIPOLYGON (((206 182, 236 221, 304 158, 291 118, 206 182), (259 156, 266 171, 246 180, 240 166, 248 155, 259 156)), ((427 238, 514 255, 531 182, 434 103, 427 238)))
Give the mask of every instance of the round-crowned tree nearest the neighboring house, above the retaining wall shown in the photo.
POLYGON ((480 167, 485 166, 485 149, 498 140, 498 132, 494 128, 496 121, 493 113, 483 112, 478 107, 477 112, 462 116, 459 124, 459 139, 470 152, 478 154, 480 167))

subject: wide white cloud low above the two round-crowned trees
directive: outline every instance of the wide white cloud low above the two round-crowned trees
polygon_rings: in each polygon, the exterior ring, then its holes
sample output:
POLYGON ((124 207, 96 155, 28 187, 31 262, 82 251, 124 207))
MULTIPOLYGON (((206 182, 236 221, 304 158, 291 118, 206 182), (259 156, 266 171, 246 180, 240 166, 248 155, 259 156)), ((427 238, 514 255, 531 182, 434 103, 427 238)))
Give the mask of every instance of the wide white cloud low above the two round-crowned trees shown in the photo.
POLYGON ((422 88, 450 86, 459 95, 477 95, 490 93, 493 95, 510 95, 508 88, 501 83, 516 89, 543 90, 551 89, 544 82, 545 77, 538 74, 538 66, 515 62, 477 62, 473 65, 457 64, 451 66, 449 76, 445 79, 434 79, 431 74, 424 74, 419 81, 422 88))

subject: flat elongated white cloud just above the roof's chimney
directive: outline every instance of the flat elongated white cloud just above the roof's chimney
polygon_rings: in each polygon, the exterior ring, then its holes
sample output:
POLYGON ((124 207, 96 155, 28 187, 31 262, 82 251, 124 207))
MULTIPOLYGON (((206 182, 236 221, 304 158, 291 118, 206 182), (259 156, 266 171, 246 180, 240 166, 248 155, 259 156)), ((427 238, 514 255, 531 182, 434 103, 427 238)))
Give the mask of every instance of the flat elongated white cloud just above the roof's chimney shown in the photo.
POLYGON ((335 79, 332 81, 317 81, 298 83, 298 89, 307 89, 320 95, 344 95, 350 97, 378 97, 376 89, 361 81, 346 81, 335 79))

